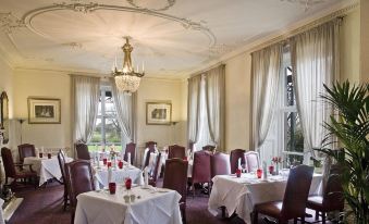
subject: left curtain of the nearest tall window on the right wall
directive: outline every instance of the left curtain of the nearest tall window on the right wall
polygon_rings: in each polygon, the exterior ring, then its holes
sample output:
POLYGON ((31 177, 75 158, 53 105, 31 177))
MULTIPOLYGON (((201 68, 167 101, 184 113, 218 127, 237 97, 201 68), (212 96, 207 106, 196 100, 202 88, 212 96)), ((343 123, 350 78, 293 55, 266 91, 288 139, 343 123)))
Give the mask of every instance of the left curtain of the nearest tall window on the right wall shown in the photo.
POLYGON ((251 53, 251 146, 254 150, 263 144, 271 121, 279 90, 282 65, 282 43, 251 53))

